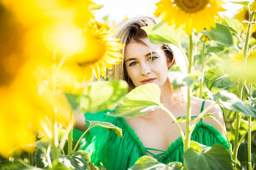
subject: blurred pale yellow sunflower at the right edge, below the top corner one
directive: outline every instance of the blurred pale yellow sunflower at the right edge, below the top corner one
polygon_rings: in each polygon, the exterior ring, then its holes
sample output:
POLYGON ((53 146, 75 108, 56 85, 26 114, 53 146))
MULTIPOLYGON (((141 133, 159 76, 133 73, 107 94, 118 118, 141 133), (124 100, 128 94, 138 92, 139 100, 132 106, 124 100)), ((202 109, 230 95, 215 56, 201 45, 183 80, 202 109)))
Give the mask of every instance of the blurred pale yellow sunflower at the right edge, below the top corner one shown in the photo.
MULTIPOLYGON (((231 60, 234 61, 233 63, 231 63, 231 66, 237 66, 238 68, 241 68, 242 59, 243 59, 242 51, 240 53, 232 53, 231 55, 229 55, 229 57, 231 58, 231 60)), ((247 57, 245 71, 240 72, 240 74, 245 77, 246 82, 248 82, 249 84, 253 82, 256 85, 255 65, 256 65, 256 51, 252 51, 247 57)))

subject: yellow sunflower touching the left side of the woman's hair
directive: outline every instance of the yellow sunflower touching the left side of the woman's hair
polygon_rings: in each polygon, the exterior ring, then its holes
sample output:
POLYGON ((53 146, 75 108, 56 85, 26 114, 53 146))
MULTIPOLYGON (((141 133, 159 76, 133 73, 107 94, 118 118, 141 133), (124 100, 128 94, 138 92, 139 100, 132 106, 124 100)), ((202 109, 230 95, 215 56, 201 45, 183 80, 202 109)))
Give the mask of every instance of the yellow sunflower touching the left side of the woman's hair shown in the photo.
POLYGON ((112 65, 119 64, 123 58, 119 50, 124 48, 124 44, 119 42, 119 38, 113 38, 110 30, 97 27, 94 24, 81 31, 79 48, 62 64, 62 68, 77 73, 78 77, 83 75, 78 79, 80 83, 92 81, 94 76, 97 79, 106 77, 106 68, 111 69, 112 65))

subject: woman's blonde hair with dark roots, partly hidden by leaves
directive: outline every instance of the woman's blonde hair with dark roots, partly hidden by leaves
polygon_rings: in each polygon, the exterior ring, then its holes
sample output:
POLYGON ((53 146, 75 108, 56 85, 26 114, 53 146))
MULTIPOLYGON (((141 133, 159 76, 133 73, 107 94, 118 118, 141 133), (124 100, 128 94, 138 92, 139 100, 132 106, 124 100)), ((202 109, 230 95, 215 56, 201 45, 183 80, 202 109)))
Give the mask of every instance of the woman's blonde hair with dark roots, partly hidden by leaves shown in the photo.
MULTIPOLYGON (((161 20, 155 16, 136 16, 133 18, 130 18, 128 20, 125 20, 115 26, 114 31, 116 32, 115 37, 120 39, 120 42, 125 44, 126 46, 131 41, 136 41, 140 44, 143 44, 147 46, 142 39, 147 38, 148 35, 146 32, 141 29, 142 26, 155 26, 159 24, 161 20)), ((126 52, 126 46, 124 49, 121 49, 119 52, 125 56, 126 52)), ((171 60, 171 66, 177 65, 180 66, 183 73, 187 73, 186 71, 186 62, 184 60, 182 53, 178 53, 180 50, 177 48, 177 46, 173 44, 162 44, 162 49, 164 50, 166 57, 168 57, 171 60), (175 49, 175 51, 173 51, 175 49), (178 55, 175 54, 177 52, 178 55), (175 54, 175 55, 174 55, 175 54)), ((129 91, 131 91, 133 88, 135 88, 135 85, 130 80, 128 73, 126 71, 125 65, 124 65, 124 59, 120 64, 114 65, 111 70, 108 70, 108 75, 110 76, 111 81, 115 80, 125 80, 129 85, 129 91)), ((183 94, 183 88, 178 88, 175 91, 173 91, 172 87, 171 92, 174 98, 179 99, 180 101, 184 101, 184 94, 183 94)))

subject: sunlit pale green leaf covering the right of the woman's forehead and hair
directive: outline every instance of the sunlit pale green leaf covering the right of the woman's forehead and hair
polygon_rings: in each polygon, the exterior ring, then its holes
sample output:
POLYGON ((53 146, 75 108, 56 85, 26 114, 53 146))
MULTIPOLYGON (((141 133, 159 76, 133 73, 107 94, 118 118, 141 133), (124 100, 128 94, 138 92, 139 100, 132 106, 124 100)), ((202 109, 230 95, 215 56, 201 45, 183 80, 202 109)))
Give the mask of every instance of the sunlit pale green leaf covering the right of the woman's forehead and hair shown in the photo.
POLYGON ((156 26, 141 27, 146 31, 149 41, 153 44, 172 43, 179 46, 180 40, 184 37, 184 31, 181 28, 175 29, 175 25, 169 26, 161 22, 156 26))

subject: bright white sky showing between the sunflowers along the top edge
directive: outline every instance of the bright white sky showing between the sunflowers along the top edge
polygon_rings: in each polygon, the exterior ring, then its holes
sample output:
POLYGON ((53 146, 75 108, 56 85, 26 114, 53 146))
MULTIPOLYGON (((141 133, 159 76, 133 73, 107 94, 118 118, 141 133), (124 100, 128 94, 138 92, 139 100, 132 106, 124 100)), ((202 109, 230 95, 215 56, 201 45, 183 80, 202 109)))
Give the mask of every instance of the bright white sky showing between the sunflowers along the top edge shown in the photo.
MULTIPOLYGON (((243 6, 224 0, 227 5, 222 7, 227 9, 225 15, 232 18, 238 9, 243 6)), ((238 1, 238 0, 232 0, 238 1)), ((127 15, 129 18, 135 15, 153 15, 155 12, 155 3, 159 0, 94 0, 99 5, 104 5, 101 9, 94 10, 97 20, 101 20, 108 15, 108 19, 113 22, 120 22, 127 15)), ((221 14, 220 14, 221 15, 221 14)))

